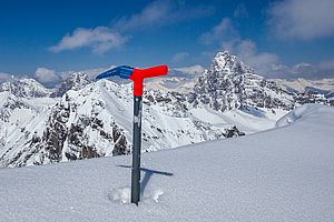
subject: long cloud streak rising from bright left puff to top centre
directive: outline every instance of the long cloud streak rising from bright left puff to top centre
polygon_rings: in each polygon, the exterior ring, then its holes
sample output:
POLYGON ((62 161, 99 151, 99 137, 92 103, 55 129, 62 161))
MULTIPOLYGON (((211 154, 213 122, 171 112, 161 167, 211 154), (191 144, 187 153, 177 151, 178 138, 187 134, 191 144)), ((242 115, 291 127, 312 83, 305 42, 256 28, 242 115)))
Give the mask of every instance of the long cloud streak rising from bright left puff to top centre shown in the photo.
POLYGON ((185 7, 181 2, 158 0, 149 3, 139 13, 124 17, 110 27, 94 29, 77 28, 66 34, 61 41, 50 47, 51 52, 89 48, 95 53, 105 53, 124 46, 128 40, 128 32, 135 29, 153 28, 171 22, 199 18, 213 12, 212 7, 185 7))

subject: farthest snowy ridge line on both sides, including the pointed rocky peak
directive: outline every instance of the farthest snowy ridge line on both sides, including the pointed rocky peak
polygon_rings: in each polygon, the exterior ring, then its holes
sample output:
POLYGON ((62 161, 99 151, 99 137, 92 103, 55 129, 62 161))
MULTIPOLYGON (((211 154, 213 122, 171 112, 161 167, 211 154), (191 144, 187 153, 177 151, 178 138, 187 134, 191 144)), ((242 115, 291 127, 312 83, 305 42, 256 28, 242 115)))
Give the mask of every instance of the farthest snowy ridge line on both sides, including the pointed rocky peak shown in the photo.
MULTIPOLYGON (((46 89, 33 79, 13 79, 11 82, 0 84, 0 92, 10 91, 17 97, 24 98, 60 98, 68 90, 80 90, 91 83, 90 78, 96 72, 97 70, 68 72, 69 77, 55 89, 46 89)), ((112 81, 119 82, 118 79, 112 81)), ((291 110, 295 104, 298 107, 304 103, 334 105, 334 100, 331 99, 333 92, 328 90, 333 85, 331 81, 325 84, 326 81, 266 80, 237 57, 224 51, 216 54, 208 70, 204 70, 200 65, 171 69, 169 77, 147 82, 147 89, 180 92, 195 104, 203 102, 222 111, 238 109, 243 104, 291 110)))

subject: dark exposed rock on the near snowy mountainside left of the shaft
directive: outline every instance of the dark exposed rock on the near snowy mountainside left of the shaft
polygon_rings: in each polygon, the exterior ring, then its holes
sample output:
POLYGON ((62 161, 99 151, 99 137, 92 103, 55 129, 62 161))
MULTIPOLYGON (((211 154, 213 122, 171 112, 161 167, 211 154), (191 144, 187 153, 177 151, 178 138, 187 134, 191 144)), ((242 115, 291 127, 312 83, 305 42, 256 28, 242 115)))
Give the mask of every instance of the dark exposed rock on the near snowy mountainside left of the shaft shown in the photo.
MULTIPOLYGON (((38 137, 37 133, 32 135, 28 148, 32 152, 30 154, 26 153, 24 159, 28 155, 31 157, 33 152, 43 153, 40 160, 35 161, 36 164, 59 162, 63 159, 80 160, 104 157, 106 153, 98 151, 95 144, 89 142, 90 135, 87 134, 89 129, 97 131, 101 140, 105 139, 110 142, 114 147, 112 155, 129 153, 129 145, 122 129, 114 122, 110 125, 112 131, 110 133, 106 132, 104 121, 97 118, 96 113, 77 115, 76 121, 68 127, 71 114, 76 115, 76 113, 71 112, 71 110, 76 109, 73 107, 76 107, 75 103, 69 99, 62 100, 55 105, 42 137, 38 137)), ((17 153, 16 158, 8 164, 14 164, 14 162, 18 162, 17 167, 24 164, 24 160, 19 161, 19 159, 22 159, 22 153, 17 153)))

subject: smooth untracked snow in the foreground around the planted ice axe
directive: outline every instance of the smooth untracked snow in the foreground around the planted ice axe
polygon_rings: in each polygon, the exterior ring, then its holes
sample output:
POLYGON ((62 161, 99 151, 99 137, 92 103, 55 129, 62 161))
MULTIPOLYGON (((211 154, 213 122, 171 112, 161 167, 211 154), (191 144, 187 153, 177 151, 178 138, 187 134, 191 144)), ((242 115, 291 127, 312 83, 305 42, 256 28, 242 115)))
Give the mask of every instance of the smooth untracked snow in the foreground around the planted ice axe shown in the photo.
POLYGON ((0 221, 333 221, 334 109, 282 122, 294 123, 145 153, 139 206, 130 155, 0 170, 0 221))

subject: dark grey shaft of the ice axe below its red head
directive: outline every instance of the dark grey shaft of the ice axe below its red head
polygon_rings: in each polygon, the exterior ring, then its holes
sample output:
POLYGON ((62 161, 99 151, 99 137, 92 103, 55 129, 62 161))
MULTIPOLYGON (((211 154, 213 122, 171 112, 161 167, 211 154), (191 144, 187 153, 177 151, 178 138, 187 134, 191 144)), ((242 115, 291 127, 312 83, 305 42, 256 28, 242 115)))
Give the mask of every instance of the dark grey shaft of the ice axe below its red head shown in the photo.
POLYGON ((134 134, 132 134, 132 170, 131 203, 140 200, 140 151, 141 151, 141 97, 134 98, 134 134))

